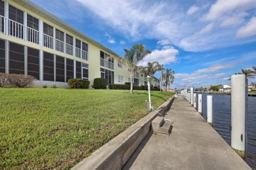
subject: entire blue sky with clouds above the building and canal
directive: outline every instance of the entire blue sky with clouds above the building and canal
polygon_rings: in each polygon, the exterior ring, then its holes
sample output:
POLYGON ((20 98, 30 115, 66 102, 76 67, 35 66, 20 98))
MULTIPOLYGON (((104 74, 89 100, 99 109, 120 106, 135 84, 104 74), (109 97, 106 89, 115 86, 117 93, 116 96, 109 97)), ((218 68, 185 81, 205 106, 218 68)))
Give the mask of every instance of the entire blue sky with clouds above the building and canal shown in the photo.
POLYGON ((152 54, 141 64, 173 69, 171 88, 230 84, 230 75, 256 66, 256 0, 32 2, 120 56, 144 44, 152 54))

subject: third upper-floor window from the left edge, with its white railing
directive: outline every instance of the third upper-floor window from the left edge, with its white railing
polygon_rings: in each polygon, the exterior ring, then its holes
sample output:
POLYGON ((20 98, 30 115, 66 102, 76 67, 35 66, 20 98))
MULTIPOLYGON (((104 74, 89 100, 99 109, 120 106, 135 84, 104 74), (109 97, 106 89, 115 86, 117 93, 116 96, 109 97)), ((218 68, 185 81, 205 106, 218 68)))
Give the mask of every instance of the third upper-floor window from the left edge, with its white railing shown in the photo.
POLYGON ((35 44, 39 43, 39 20, 27 14, 27 40, 35 44))

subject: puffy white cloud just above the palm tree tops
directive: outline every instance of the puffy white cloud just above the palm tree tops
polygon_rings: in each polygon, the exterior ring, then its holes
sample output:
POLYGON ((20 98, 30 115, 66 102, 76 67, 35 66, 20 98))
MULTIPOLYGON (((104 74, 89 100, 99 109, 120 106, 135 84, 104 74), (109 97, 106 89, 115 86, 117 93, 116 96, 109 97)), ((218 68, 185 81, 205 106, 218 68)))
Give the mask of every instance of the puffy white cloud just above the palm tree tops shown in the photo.
POLYGON ((179 50, 173 48, 173 46, 163 46, 161 50, 154 50, 151 54, 148 54, 143 61, 138 65, 146 66, 148 62, 158 61, 163 65, 168 65, 176 61, 176 56, 179 54, 179 50))

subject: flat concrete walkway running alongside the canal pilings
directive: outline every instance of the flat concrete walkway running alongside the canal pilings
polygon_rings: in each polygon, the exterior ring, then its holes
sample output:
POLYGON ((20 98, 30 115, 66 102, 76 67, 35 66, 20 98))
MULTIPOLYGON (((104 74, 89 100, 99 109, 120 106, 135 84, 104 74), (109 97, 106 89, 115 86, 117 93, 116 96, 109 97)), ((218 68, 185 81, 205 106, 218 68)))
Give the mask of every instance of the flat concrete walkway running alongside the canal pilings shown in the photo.
POLYGON ((174 121, 171 134, 148 133, 123 169, 251 169, 186 99, 165 118, 174 121))

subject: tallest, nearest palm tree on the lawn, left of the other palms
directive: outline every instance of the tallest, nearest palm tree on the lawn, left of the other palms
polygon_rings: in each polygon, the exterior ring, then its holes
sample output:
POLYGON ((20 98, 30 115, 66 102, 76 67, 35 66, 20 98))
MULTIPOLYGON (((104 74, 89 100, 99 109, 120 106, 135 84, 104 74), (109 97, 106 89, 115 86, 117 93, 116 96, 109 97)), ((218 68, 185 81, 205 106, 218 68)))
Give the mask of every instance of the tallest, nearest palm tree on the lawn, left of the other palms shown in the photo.
POLYGON ((124 58, 118 58, 123 65, 128 67, 131 75, 131 93, 133 93, 133 75, 135 72, 139 71, 140 67, 137 67, 137 63, 142 61, 147 54, 150 54, 149 49, 145 50, 143 44, 134 44, 129 50, 125 50, 124 58))

